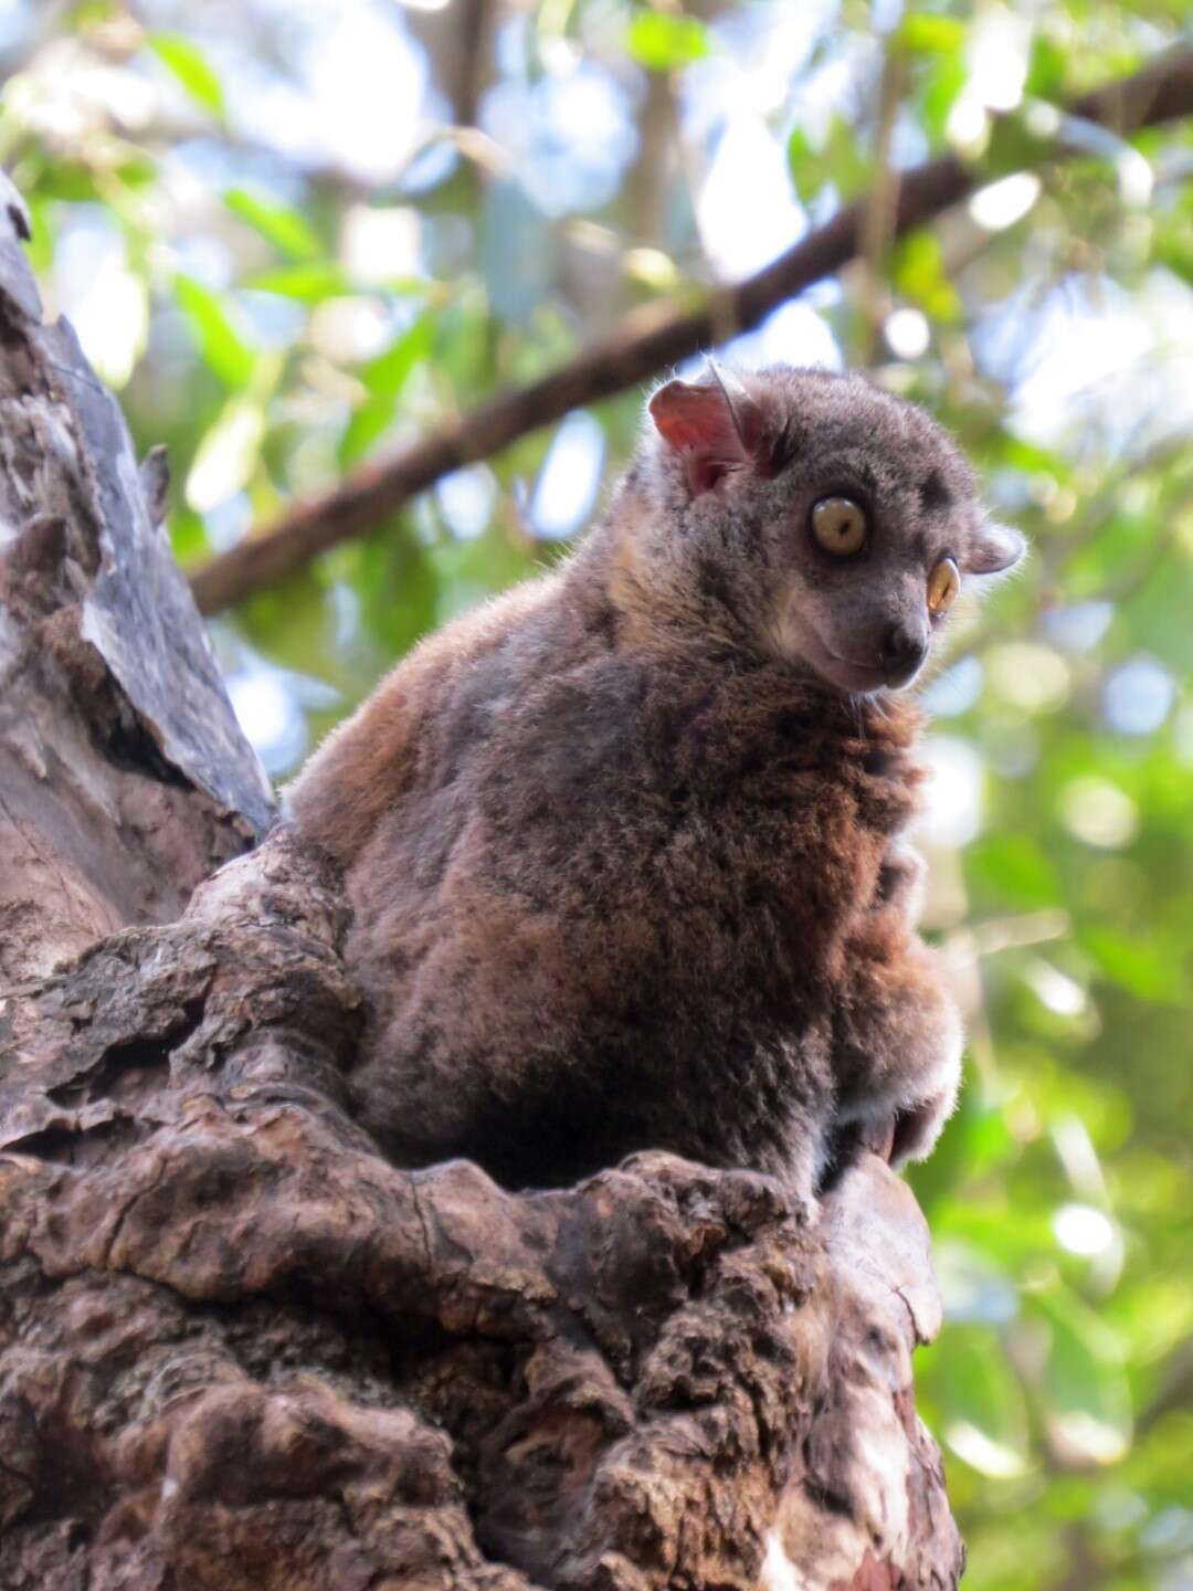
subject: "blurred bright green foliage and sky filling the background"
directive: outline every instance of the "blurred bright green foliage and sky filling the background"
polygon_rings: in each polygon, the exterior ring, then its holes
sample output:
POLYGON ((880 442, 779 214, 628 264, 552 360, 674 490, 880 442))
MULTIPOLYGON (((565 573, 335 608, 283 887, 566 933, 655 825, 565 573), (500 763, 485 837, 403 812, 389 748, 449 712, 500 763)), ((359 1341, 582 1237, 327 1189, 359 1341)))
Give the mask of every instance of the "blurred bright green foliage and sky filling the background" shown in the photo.
MULTIPOLYGON (((347 468, 757 269, 954 150, 986 185, 725 350, 931 406, 1034 554, 927 687, 929 928, 969 1087, 916 1176, 921 1359, 977 1591, 1193 1586, 1193 129, 1069 127, 1183 0, 0 5, 52 312, 167 442, 197 563, 347 468), (883 113, 886 107, 886 113, 883 113), (993 113, 1001 113, 996 124, 993 113)), ((641 391, 213 625, 283 778, 420 635, 550 563, 641 391)))

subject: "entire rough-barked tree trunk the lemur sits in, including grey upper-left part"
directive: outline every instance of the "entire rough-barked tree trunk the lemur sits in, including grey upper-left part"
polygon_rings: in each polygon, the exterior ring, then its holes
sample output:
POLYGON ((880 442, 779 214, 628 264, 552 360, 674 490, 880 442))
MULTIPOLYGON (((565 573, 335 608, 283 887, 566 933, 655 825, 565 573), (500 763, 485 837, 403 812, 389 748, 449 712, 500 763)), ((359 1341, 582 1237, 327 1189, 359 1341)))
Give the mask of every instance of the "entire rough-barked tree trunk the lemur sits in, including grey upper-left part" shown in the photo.
POLYGON ((511 1195, 350 1120, 336 878, 247 853, 161 468, 0 202, 2 1591, 953 1586, 880 1161, 810 1231, 746 1171, 511 1195))

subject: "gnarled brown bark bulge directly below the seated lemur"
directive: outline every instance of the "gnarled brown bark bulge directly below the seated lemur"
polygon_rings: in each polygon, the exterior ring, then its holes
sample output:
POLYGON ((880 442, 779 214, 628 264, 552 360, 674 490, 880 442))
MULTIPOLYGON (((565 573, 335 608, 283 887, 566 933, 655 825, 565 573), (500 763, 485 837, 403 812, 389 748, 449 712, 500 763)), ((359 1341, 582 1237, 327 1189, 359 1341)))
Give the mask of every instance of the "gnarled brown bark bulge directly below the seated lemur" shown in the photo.
POLYGON ((280 831, 10 996, 0 1586, 953 1585, 910 1192, 398 1171, 340 931, 280 831))

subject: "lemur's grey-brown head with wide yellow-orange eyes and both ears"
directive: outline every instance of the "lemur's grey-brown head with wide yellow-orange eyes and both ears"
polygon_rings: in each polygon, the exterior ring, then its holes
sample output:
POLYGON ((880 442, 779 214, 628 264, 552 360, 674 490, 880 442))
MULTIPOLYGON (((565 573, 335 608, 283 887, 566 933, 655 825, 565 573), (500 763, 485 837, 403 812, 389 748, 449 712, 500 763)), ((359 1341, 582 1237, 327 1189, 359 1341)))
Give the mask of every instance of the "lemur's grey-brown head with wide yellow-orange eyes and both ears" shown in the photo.
POLYGON ((647 578, 840 690, 910 684, 961 582, 1024 550, 946 433, 865 377, 709 366, 649 410, 647 578))

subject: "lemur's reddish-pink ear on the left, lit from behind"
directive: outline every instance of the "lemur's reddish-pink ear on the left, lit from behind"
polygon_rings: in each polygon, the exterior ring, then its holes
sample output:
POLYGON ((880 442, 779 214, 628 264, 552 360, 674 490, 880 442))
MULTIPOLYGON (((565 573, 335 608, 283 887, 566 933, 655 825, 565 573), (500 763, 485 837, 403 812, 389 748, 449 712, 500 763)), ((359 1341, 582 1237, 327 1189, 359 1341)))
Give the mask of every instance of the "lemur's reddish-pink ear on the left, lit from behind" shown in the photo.
POLYGON ((703 380, 668 382, 649 409, 659 434, 684 460, 692 496, 765 457, 762 409, 736 375, 711 360, 703 380))

